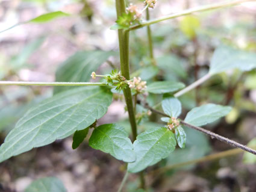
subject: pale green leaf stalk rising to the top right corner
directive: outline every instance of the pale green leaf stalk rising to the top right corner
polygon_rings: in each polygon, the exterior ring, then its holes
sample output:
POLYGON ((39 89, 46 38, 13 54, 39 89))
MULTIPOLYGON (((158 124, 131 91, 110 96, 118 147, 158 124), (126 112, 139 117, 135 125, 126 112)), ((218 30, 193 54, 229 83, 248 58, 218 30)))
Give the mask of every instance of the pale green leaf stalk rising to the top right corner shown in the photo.
POLYGON ((157 19, 152 19, 152 20, 141 22, 139 25, 131 26, 128 30, 131 31, 134 29, 139 29, 139 28, 142 28, 143 26, 152 25, 154 23, 158 23, 163 20, 186 16, 188 14, 192 14, 192 13, 196 13, 196 12, 214 10, 217 8, 224 8, 224 7, 229 7, 229 6, 233 6, 233 5, 239 5, 239 4, 242 4, 243 2, 248 2, 248 1, 255 1, 255 0, 236 0, 236 1, 228 1, 228 2, 220 2, 220 3, 216 3, 216 4, 204 5, 204 6, 196 7, 196 8, 190 8, 188 10, 180 11, 178 13, 173 13, 173 14, 159 17, 157 19))

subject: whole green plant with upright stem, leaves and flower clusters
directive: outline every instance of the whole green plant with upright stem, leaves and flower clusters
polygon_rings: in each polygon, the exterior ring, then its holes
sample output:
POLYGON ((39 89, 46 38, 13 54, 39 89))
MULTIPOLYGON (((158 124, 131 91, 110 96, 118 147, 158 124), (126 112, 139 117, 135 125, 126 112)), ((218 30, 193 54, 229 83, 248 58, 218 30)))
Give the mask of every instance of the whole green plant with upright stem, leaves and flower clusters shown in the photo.
MULTIPOLYGON (((0 162, 5 161, 11 156, 27 152, 33 149, 33 147, 45 146, 72 134, 74 134, 73 149, 75 149, 83 142, 89 129, 92 128, 94 129, 89 139, 89 145, 94 149, 110 153, 114 158, 128 163, 128 172, 140 172, 140 188, 144 189, 146 187, 143 170, 158 163, 161 159, 167 158, 175 150, 177 143, 181 148, 186 147, 187 136, 186 131, 184 131, 186 128, 204 132, 210 135, 211 138, 217 138, 220 141, 255 155, 256 151, 254 149, 199 127, 226 116, 231 111, 231 107, 205 104, 190 110, 184 120, 178 119, 182 110, 181 102, 178 99, 180 96, 198 87, 198 85, 201 85, 212 76, 223 73, 226 70, 239 69, 241 72, 247 72, 255 69, 255 53, 240 51, 229 46, 220 46, 214 51, 210 62, 210 70, 206 75, 187 87, 183 82, 176 81, 154 81, 146 85, 146 81, 142 81, 139 76, 135 75, 131 78, 130 74, 130 31, 147 26, 149 65, 150 69, 154 70, 157 61, 154 58, 151 28, 149 25, 198 11, 237 5, 242 2, 246 2, 246 0, 208 5, 150 20, 149 8, 154 8, 156 1, 145 1, 145 8, 140 11, 135 5, 126 7, 124 0, 116 0, 117 21, 116 25, 113 25, 111 28, 118 29, 120 72, 113 70, 110 74, 97 75, 94 71, 110 55, 114 55, 114 52, 92 51, 79 52, 73 55, 75 61, 70 58, 70 60, 58 68, 56 73, 57 81, 67 82, 0 81, 0 85, 56 86, 54 88, 54 96, 31 108, 7 135, 0 147, 0 162), (146 11, 146 21, 141 19, 143 11, 146 11), (243 65, 243 63, 246 63, 246 65, 243 65), (102 78, 102 81, 85 82, 89 81, 90 75, 93 79, 97 77, 102 78), (72 88, 69 86, 72 86, 72 88), (83 87, 73 88, 75 86, 83 87), (126 110, 129 114, 133 135, 132 141, 125 129, 117 123, 97 126, 97 120, 107 112, 113 99, 113 93, 116 92, 123 94, 125 98, 126 110), (148 93, 160 94, 161 102, 151 107, 147 100, 148 93), (140 107, 149 111, 144 111, 140 113, 140 116, 137 116, 136 111, 139 104, 140 107), (157 110, 159 105, 161 105, 163 112, 157 110), (164 116, 161 120, 166 125, 152 127, 137 135, 137 124, 141 123, 143 118, 150 116, 151 113, 164 116)), ((32 19, 30 22, 48 21, 59 16, 68 15, 62 12, 49 13, 32 19)), ((193 25, 192 29, 197 25, 193 25)), ((194 38, 195 31, 191 32, 191 29, 184 29, 184 25, 182 29, 184 33, 189 33, 189 38, 194 38)), ((124 182, 126 178, 124 178, 124 182)), ((120 190, 122 190, 122 186, 120 190)))

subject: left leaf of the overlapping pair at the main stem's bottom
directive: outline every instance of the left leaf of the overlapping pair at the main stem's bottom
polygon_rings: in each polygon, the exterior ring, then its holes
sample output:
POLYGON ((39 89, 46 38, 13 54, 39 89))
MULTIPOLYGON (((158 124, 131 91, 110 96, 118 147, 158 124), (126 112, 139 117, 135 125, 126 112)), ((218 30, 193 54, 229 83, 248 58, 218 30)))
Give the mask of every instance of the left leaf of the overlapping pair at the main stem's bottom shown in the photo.
POLYGON ((116 124, 105 124, 95 128, 89 145, 125 162, 133 162, 136 159, 128 133, 116 124))

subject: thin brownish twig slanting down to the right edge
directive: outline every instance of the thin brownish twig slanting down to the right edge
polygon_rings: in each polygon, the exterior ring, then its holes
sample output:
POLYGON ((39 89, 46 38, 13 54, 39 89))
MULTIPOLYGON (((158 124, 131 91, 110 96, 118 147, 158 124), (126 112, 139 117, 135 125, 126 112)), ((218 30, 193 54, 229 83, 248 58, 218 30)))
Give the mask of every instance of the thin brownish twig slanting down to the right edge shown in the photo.
MULTIPOLYGON (((163 113, 163 112, 161 112, 161 111, 155 110, 154 108, 150 107, 150 106, 148 105, 148 103, 146 103, 146 102, 142 102, 142 101, 139 101, 139 100, 138 100, 138 102, 139 102, 140 104, 142 104, 143 107, 148 108, 149 110, 151 110, 153 113, 158 113, 158 114, 160 114, 161 116, 170 117, 170 116, 168 116, 167 114, 165 114, 165 113, 163 113)), ((231 145, 231 146, 240 148, 240 149, 242 149, 242 150, 245 150, 245 151, 247 151, 247 152, 249 152, 249 153, 252 153, 252 154, 256 155, 256 150, 251 149, 250 147, 247 147, 247 146, 245 146, 245 145, 243 145, 243 144, 237 143, 237 142, 234 141, 234 140, 230 140, 229 138, 222 137, 222 136, 220 136, 220 135, 218 135, 218 134, 216 134, 216 133, 214 133, 214 132, 208 131, 207 129, 201 128, 201 127, 199 127, 199 126, 190 125, 189 123, 184 122, 184 120, 181 120, 181 123, 182 123, 183 125, 186 125, 188 128, 192 128, 192 129, 195 129, 195 130, 197 130, 197 131, 203 132, 204 134, 210 136, 211 138, 216 138, 216 139, 219 140, 219 141, 225 142, 225 143, 227 143, 227 144, 229 144, 229 145, 231 145)))

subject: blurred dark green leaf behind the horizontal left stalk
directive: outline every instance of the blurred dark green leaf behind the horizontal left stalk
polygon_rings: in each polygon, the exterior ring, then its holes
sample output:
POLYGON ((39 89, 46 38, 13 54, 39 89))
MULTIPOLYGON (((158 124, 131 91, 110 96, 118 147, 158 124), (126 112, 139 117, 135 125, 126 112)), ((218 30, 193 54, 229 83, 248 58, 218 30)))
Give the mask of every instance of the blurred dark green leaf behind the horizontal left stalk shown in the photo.
MULTIPOLYGON (((112 51, 81 51, 76 52, 58 67, 55 78, 60 82, 90 81, 91 74, 101 66, 111 55, 112 51)), ((73 88, 73 87, 71 87, 73 88)), ((70 87, 54 87, 54 93, 69 90, 70 87)))

